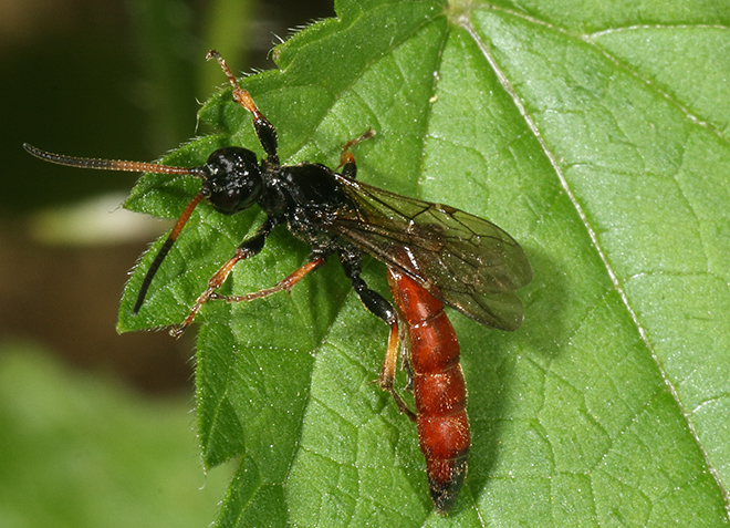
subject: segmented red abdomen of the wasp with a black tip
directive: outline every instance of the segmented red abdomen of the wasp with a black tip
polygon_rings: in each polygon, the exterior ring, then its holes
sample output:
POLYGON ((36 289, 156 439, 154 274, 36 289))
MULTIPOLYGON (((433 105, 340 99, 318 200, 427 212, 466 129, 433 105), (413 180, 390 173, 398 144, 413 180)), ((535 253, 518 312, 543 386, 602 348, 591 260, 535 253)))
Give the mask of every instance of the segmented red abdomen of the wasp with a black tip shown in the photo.
POLYGON ((416 424, 431 498, 447 513, 463 484, 470 445, 459 342, 441 301, 394 269, 388 281, 410 340, 416 424))

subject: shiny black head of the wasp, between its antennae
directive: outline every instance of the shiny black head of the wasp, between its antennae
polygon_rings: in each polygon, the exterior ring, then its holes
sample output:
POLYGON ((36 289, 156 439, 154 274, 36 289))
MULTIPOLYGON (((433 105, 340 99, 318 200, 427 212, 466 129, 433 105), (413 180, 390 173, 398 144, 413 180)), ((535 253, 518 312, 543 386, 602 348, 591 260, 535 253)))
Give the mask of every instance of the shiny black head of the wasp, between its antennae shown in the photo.
POLYGON ((247 148, 213 152, 202 167, 202 194, 225 215, 248 209, 261 195, 263 179, 255 154, 247 148))

